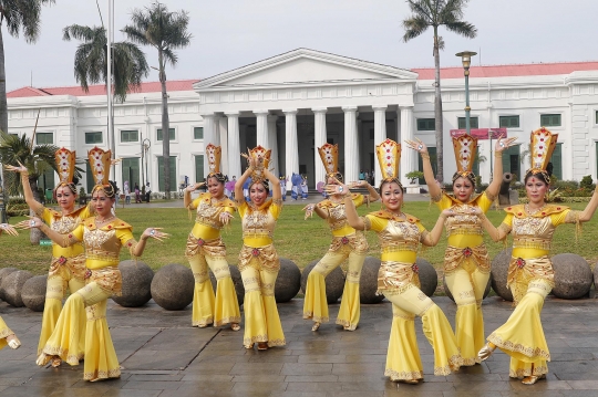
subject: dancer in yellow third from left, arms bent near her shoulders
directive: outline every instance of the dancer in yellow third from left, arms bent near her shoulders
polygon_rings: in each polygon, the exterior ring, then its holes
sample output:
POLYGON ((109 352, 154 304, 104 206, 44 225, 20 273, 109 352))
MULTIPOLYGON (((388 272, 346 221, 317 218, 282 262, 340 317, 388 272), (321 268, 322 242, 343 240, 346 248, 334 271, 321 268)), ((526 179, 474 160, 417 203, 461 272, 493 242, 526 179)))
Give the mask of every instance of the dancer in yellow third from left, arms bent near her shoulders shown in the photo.
POLYGON ((233 219, 235 203, 224 194, 225 176, 219 170, 221 148, 209 144, 206 154, 209 164, 207 184, 189 185, 185 189, 184 199, 186 208, 197 209, 195 226, 185 251, 195 278, 192 324, 200 328, 209 324, 230 324, 233 331, 239 331, 239 303, 226 261, 226 247, 220 238, 220 230, 233 219), (192 201, 190 192, 206 185, 208 192, 192 201), (208 267, 216 276, 216 296, 209 281, 208 267))

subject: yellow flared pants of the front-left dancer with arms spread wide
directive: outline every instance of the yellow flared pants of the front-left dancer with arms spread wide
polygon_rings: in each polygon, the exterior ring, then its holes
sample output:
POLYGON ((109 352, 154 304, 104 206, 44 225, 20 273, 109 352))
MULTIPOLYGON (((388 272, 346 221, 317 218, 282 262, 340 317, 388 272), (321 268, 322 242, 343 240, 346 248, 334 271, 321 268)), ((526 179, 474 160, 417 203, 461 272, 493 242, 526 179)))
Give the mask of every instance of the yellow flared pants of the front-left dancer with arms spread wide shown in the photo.
POLYGON ((70 365, 78 365, 78 341, 85 332, 85 363, 83 378, 117 378, 121 376, 118 358, 114 351, 112 337, 106 322, 106 303, 112 292, 101 289, 91 282, 73 293, 60 313, 56 327, 48 339, 43 353, 60 356, 70 365), (86 327, 81 327, 81 316, 86 311, 86 327), (75 353, 73 353, 75 352, 75 353))

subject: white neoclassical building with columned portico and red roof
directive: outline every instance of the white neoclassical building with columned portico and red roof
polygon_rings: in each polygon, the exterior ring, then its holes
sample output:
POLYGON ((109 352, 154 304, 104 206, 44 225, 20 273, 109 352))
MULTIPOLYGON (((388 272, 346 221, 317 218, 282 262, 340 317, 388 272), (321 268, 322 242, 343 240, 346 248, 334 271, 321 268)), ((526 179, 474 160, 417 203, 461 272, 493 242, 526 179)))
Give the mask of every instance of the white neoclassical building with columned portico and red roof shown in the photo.
MULTIPOLYGON (((386 137, 417 137, 435 152, 434 70, 400 69, 330 53, 299 49, 200 81, 168 83, 171 169, 177 184, 203 180, 204 147, 223 147, 223 171, 241 173, 239 154, 262 145, 272 149, 275 173, 323 180, 315 148, 339 145, 347 180, 374 169, 374 145, 386 137)), ((451 130, 464 128, 463 69, 442 70, 445 180, 456 170, 451 130)), ((9 133, 32 134, 39 112, 38 143, 76 149, 79 157, 97 145, 110 147, 103 86, 23 87, 9 97, 9 133)), ((506 127, 520 145, 503 157, 505 171, 520 177, 528 168, 529 132, 540 126, 559 134, 553 163, 560 179, 598 175, 598 62, 473 66, 470 79, 472 128, 506 127), (569 160, 566 160, 569 158, 569 160)), ((122 186, 144 181, 163 189, 161 92, 144 83, 115 105, 115 157, 123 160, 114 179, 122 186)), ((487 181, 493 140, 481 139, 478 173, 487 181)), ((421 169, 416 153, 404 149, 401 174, 421 169)), ((403 177, 406 182, 406 178, 403 177)), ((49 173, 42 182, 53 186, 49 173)), ((83 181, 92 186, 91 176, 83 181)))

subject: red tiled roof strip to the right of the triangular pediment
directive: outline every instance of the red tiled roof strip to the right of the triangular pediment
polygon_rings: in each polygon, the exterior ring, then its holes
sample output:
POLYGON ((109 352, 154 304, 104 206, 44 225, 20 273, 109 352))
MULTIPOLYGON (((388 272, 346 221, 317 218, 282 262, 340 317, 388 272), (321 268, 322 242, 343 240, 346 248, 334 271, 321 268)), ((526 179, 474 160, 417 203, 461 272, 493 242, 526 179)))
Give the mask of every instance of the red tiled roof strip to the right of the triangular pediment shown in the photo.
MULTIPOLYGON (((434 67, 412 69, 417 80, 434 80, 434 67)), ((598 71, 598 62, 532 63, 520 65, 492 65, 470 69, 471 77, 513 77, 569 74, 577 71, 598 71)), ((463 67, 441 67, 441 79, 463 79, 463 67)))

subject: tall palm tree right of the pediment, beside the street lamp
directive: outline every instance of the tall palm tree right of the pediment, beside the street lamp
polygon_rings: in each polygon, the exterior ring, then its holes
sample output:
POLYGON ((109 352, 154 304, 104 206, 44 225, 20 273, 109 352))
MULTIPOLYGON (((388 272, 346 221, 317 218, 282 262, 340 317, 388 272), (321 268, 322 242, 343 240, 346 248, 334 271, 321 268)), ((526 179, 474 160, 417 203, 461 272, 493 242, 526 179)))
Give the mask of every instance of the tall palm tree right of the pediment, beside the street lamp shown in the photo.
POLYGON ((440 182, 444 181, 443 167, 443 125, 442 125, 442 96, 440 85, 440 50, 444 49, 444 40, 439 35, 439 28, 444 25, 448 31, 461 34, 465 38, 473 39, 477 34, 477 29, 470 22, 462 20, 463 10, 470 0, 408 0, 412 15, 403 20, 403 29, 405 34, 403 41, 408 42, 411 39, 424 33, 427 28, 433 29, 434 33, 434 117, 436 119, 436 179, 440 182))

